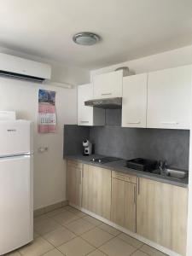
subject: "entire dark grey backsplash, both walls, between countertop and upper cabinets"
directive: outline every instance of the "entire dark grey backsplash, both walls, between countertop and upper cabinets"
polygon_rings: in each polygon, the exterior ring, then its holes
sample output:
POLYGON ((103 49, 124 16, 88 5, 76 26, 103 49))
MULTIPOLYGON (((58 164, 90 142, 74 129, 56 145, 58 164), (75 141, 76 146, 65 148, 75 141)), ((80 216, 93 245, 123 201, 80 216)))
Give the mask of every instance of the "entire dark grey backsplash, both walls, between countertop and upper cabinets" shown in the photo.
POLYGON ((80 154, 82 140, 89 138, 96 154, 132 159, 167 160, 168 164, 189 169, 189 131, 122 128, 121 110, 106 110, 106 126, 65 125, 64 154, 80 154))

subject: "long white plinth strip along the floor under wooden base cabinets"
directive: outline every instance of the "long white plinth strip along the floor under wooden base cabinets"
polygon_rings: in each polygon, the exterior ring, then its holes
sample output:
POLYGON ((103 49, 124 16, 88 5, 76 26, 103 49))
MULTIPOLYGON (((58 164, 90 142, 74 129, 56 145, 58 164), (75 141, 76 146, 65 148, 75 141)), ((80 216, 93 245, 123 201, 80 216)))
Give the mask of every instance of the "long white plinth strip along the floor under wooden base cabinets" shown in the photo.
POLYGON ((170 250, 166 247, 160 246, 159 244, 155 243, 154 241, 150 241, 150 240, 148 240, 147 238, 145 238, 143 236, 137 235, 137 233, 133 233, 130 230, 126 230, 125 228, 119 226, 118 224, 114 224, 112 221, 108 220, 107 218, 102 218, 101 216, 97 215, 94 212, 90 212, 90 211, 88 211, 88 210, 86 210, 82 207, 78 207, 76 205, 73 205, 72 203, 69 203, 69 205, 79 209, 80 211, 82 211, 84 213, 87 213, 88 215, 90 215, 90 216, 92 216, 92 217, 94 217, 98 220, 101 220, 103 223, 108 224, 108 225, 112 226, 113 228, 115 228, 117 230, 120 230, 121 232, 123 232, 123 233, 125 233, 125 234, 127 234, 127 235, 129 235, 133 238, 136 238, 139 241, 143 241, 143 243, 147 244, 150 247, 154 247, 155 249, 159 250, 162 253, 166 253, 169 256, 182 256, 178 253, 173 252, 172 250, 170 250))

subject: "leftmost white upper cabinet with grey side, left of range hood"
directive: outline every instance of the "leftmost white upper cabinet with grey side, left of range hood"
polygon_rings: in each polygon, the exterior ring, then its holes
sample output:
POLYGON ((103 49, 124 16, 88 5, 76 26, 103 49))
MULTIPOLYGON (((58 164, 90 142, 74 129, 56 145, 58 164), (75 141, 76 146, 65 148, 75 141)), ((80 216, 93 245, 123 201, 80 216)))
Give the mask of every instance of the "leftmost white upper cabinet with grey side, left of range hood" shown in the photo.
POLYGON ((84 106, 93 98, 93 84, 78 86, 78 125, 105 125, 105 111, 101 108, 84 106))

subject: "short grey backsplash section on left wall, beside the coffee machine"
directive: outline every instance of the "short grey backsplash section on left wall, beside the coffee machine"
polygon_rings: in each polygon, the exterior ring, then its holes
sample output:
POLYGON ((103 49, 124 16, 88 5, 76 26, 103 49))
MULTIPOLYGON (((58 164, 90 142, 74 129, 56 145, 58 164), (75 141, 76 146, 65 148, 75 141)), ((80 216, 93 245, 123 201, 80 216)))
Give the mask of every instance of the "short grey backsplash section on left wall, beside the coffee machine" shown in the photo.
POLYGON ((90 128, 78 125, 64 125, 63 155, 82 154, 82 142, 90 137, 90 128))

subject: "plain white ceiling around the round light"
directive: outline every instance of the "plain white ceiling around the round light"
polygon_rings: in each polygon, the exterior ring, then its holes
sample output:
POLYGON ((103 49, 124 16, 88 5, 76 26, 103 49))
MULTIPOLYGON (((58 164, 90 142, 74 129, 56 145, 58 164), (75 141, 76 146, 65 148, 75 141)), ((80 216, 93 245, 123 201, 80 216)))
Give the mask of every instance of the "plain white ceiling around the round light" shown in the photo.
POLYGON ((192 44, 191 0, 2 0, 0 46, 95 69, 192 44), (96 32, 94 46, 73 43, 96 32))

